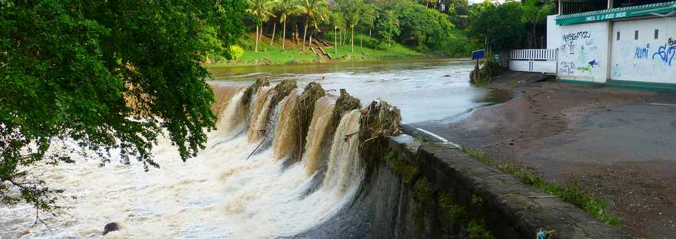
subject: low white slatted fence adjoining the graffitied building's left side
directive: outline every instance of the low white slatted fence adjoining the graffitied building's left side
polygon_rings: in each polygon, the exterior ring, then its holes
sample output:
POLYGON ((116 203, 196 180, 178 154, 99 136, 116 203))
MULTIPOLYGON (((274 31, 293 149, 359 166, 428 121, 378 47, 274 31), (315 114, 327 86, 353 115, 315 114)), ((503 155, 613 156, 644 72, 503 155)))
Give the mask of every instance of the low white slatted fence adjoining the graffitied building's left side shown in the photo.
POLYGON ((557 49, 512 50, 509 54, 509 70, 517 72, 557 72, 557 49))

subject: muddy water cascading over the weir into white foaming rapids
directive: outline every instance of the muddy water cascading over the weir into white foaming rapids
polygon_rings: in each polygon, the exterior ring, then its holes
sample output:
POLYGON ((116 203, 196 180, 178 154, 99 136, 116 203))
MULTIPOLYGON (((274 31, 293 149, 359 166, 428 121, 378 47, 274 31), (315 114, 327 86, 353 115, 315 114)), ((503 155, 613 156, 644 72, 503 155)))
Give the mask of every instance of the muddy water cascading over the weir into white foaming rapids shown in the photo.
POLYGON ((39 174, 66 196, 77 196, 74 207, 48 218, 50 232, 31 229, 34 210, 17 205, 12 214, 2 211, 14 216, 3 216, 0 236, 92 238, 117 222, 121 231, 106 238, 285 237, 320 225, 355 200, 365 175, 359 110, 337 112, 338 96, 322 93, 303 127, 299 112, 310 105, 300 102, 313 96, 297 89, 212 88, 217 130, 196 158, 183 163, 160 138, 154 155, 161 168, 150 172, 134 164, 97 167, 84 158, 46 167, 39 174))

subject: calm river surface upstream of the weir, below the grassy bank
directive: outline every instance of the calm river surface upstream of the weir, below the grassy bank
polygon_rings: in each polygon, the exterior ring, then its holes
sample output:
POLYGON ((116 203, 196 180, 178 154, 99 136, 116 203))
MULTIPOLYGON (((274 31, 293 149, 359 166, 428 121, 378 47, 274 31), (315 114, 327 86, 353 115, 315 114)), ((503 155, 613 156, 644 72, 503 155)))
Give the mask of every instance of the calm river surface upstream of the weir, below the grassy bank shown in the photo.
POLYGON ((468 59, 415 59, 323 63, 314 65, 264 65, 210 67, 215 81, 250 85, 259 77, 278 82, 295 79, 299 87, 321 81, 326 90, 344 88, 362 104, 384 99, 401 110, 404 123, 448 121, 469 110, 506 101, 505 92, 469 83, 474 68, 468 59))

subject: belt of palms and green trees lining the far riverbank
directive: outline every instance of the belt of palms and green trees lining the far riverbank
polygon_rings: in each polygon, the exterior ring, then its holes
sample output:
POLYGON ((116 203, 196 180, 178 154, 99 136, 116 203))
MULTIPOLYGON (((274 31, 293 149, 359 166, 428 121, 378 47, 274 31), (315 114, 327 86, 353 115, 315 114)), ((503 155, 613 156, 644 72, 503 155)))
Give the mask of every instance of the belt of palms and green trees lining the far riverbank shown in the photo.
POLYGON ((467 56, 485 44, 495 50, 535 48, 542 35, 537 30, 554 10, 549 0, 485 1, 473 6, 467 0, 246 1, 250 14, 246 25, 255 32, 255 43, 245 48, 255 52, 261 36, 268 37, 270 45, 277 39, 281 50, 288 48, 287 41, 305 49, 313 39, 324 39, 354 51, 355 34, 375 39, 379 50, 396 42, 448 56, 467 56))

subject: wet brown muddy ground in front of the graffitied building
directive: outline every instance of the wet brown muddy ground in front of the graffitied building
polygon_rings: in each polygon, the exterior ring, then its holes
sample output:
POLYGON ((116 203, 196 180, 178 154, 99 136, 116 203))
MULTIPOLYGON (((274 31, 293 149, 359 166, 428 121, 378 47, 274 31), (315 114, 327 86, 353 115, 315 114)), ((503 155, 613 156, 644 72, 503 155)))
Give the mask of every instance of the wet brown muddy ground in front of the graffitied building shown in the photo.
POLYGON ((676 93, 518 82, 493 84, 507 103, 414 126, 578 183, 637 236, 676 237, 676 93))

